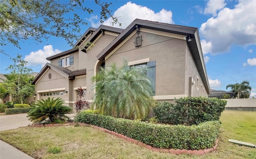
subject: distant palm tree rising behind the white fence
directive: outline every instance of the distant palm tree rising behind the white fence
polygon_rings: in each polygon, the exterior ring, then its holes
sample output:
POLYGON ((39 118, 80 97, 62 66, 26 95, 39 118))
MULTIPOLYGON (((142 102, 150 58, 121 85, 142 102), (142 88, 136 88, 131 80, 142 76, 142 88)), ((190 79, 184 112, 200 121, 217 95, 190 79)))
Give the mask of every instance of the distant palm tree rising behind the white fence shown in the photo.
POLYGON ((234 92, 234 96, 239 98, 248 98, 250 97, 250 93, 252 87, 250 86, 249 81, 242 81, 241 83, 228 84, 226 89, 231 88, 230 91, 234 92))

